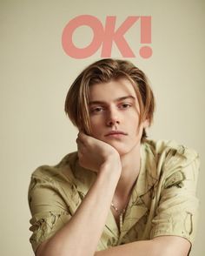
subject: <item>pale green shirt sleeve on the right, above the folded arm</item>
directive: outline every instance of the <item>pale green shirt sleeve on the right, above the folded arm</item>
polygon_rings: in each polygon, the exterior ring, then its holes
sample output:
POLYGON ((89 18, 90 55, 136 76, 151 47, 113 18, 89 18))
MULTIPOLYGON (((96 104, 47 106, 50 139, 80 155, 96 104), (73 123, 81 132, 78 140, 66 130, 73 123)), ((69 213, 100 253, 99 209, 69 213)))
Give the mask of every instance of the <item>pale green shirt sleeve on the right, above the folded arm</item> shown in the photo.
MULTIPOLYGON (((170 160, 165 166, 166 170, 162 176, 166 178, 162 178, 160 200, 152 220, 150 239, 175 235, 188 239, 192 244, 199 208, 199 200, 196 197, 199 158, 195 152, 191 157, 190 153, 186 153, 177 158, 177 163, 170 160)), ((173 160, 175 161, 175 158, 173 160)))

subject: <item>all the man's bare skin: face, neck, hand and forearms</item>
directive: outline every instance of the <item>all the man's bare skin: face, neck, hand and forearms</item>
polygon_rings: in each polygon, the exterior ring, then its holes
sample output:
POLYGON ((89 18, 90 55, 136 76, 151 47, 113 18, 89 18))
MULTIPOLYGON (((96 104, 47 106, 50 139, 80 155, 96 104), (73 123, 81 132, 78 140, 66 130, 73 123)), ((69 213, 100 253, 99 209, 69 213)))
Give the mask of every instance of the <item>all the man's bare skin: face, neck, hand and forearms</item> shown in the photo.
POLYGON ((188 240, 175 236, 134 242, 96 253, 111 202, 123 209, 129 200, 140 170, 142 129, 149 121, 143 120, 139 125, 136 92, 126 79, 92 85, 89 101, 92 136, 79 132, 76 143, 80 165, 96 172, 96 181, 69 222, 43 242, 36 255, 187 255, 188 240))

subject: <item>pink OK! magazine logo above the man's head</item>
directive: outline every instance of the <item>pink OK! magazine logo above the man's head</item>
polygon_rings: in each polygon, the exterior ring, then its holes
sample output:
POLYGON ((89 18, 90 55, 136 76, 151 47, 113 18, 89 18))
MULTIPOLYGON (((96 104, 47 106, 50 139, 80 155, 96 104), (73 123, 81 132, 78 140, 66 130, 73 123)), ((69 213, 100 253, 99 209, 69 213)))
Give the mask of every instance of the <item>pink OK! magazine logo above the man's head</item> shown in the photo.
MULTIPOLYGON (((124 35, 129 28, 140 21, 141 40, 140 56, 149 58, 152 56, 151 44, 151 17, 150 16, 130 16, 116 29, 116 17, 108 16, 105 25, 94 16, 81 15, 73 18, 65 26, 62 35, 63 50, 74 58, 85 58, 93 55, 102 45, 101 57, 111 57, 112 44, 115 42, 122 57, 136 57, 135 53, 129 47, 124 35), (78 48, 73 42, 73 33, 80 26, 88 26, 93 30, 93 39, 90 44, 84 48, 78 48)), ((135 36, 135 35, 134 35, 135 36)))

